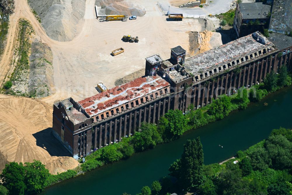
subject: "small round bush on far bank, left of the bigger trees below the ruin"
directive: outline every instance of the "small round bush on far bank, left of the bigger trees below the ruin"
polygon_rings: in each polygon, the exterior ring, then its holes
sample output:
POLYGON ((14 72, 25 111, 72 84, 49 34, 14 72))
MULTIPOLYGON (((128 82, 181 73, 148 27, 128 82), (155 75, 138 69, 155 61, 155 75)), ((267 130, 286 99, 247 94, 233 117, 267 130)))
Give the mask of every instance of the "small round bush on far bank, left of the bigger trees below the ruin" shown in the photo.
POLYGON ((118 161, 123 157, 121 151, 117 150, 116 143, 106 146, 101 150, 102 150, 101 158, 105 160, 105 162, 107 163, 118 161))

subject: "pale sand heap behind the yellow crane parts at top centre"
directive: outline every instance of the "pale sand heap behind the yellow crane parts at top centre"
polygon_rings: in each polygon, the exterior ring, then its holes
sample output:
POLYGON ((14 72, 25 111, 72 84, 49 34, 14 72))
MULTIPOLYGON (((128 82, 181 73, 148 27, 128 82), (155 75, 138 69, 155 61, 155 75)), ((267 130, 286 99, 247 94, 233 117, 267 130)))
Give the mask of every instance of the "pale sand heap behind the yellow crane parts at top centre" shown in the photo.
POLYGON ((133 8, 131 4, 123 0, 96 0, 95 5, 101 6, 102 14, 144 16, 146 11, 142 8, 133 8))

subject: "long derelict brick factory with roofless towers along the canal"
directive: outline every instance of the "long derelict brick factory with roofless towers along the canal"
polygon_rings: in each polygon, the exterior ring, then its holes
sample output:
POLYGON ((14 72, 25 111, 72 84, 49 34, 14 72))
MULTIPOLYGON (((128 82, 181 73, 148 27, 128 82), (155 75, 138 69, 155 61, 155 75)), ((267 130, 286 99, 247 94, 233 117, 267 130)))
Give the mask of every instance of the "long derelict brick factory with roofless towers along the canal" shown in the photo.
POLYGON ((281 37, 269 40, 256 32, 188 59, 180 46, 168 60, 147 57, 143 77, 79 102, 56 102, 53 135, 75 159, 82 158, 132 136, 142 122, 157 123, 170 109, 185 113, 190 104, 198 109, 233 94, 232 87, 263 82, 267 73, 291 64, 292 40, 282 43, 281 37))

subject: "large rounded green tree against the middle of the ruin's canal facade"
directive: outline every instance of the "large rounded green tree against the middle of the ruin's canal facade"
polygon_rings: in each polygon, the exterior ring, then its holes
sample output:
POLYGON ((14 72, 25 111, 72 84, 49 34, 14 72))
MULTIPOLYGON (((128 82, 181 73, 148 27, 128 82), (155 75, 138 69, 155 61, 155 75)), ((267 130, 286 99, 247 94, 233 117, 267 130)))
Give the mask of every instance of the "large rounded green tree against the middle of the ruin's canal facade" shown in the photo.
POLYGON ((172 138, 178 138, 187 129, 187 119, 180 110, 169 110, 165 115, 168 120, 166 129, 172 138))

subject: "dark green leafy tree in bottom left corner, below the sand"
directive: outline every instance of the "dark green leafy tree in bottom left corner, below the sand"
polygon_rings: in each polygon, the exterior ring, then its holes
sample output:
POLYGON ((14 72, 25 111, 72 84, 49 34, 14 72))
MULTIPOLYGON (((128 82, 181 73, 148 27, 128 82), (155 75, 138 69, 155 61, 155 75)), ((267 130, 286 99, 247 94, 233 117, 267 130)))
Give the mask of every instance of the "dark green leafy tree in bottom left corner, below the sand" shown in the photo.
POLYGON ((11 162, 6 164, 0 177, 3 186, 9 190, 10 194, 24 194, 26 189, 25 168, 22 163, 11 162))

